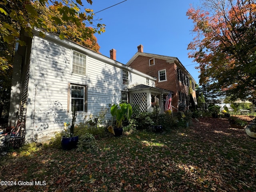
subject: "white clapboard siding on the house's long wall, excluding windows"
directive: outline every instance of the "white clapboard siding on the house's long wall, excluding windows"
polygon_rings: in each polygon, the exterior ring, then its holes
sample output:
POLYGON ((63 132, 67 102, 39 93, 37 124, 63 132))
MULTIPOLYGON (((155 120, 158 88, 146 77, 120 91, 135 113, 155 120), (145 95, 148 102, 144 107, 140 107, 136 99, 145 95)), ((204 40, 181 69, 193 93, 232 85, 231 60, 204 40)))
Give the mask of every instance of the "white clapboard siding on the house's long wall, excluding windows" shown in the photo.
MULTIPOLYGON (((97 58, 97 54, 84 48, 86 54, 87 75, 70 73, 72 44, 64 46, 57 41, 35 36, 32 44, 30 64, 30 87, 28 88, 27 137, 53 136, 54 132, 62 131, 64 122, 70 122, 72 115, 67 113, 68 83, 88 86, 88 112, 78 112, 76 122, 83 122, 84 117, 96 114, 102 106, 108 107, 121 99, 121 91, 137 84, 146 84, 146 77, 129 71, 129 85, 122 85, 122 68, 125 65, 113 64, 109 58, 97 58), (96 56, 95 56, 96 55, 96 56), (103 59, 102 59, 103 58, 103 59)), ((150 80, 150 85, 154 83, 150 80)), ((109 116, 110 117, 110 116, 109 116)), ((29 138, 27 138, 29 139, 29 138)), ((31 139, 31 138, 30 138, 31 139)))

